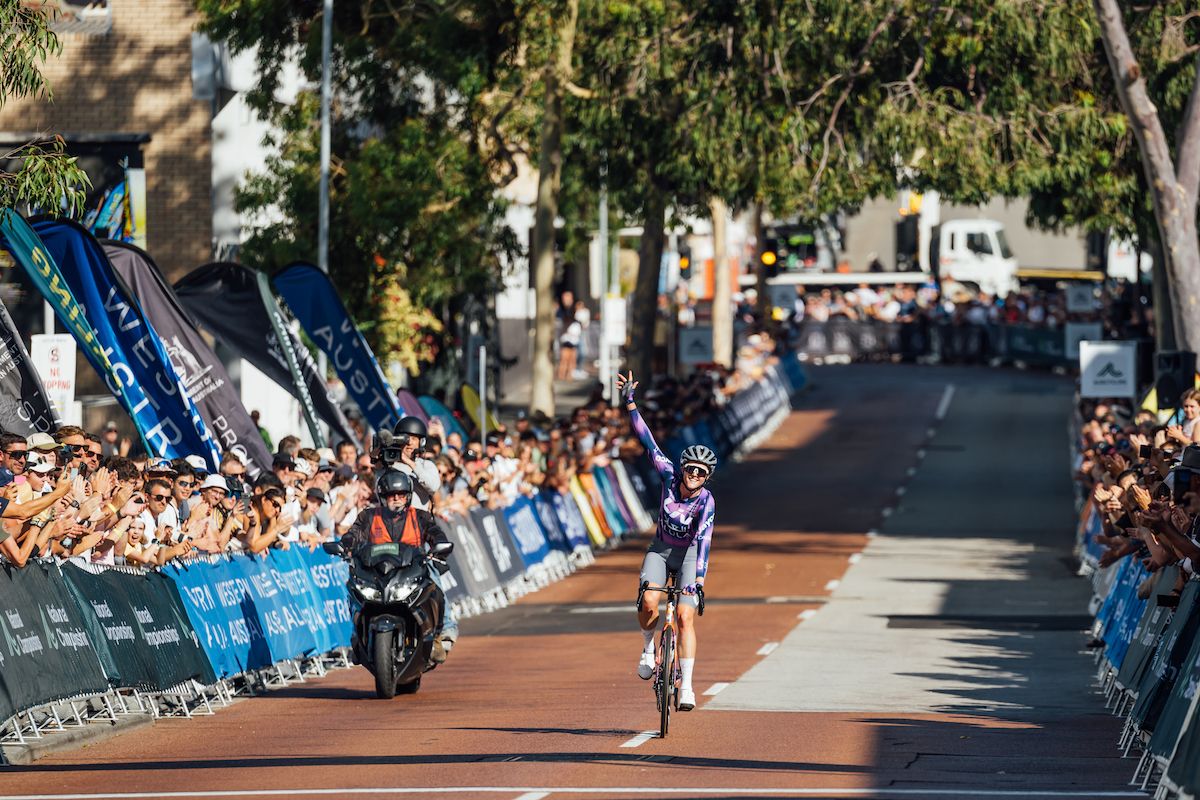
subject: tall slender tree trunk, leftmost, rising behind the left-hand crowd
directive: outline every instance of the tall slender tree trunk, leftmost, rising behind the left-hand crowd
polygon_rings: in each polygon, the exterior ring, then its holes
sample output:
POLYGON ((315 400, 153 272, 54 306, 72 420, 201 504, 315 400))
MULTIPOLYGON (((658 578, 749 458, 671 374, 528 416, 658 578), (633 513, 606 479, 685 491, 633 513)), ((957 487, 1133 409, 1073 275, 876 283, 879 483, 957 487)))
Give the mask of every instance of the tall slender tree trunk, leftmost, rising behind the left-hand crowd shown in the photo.
POLYGON ((546 65, 546 106, 541 120, 541 152, 538 157, 538 207, 534 210, 533 246, 529 263, 534 269, 536 311, 533 333, 533 383, 529 410, 554 416, 554 219, 558 217, 558 190, 563 174, 563 85, 571 76, 575 23, 580 0, 566 0, 554 31, 554 61, 546 65))

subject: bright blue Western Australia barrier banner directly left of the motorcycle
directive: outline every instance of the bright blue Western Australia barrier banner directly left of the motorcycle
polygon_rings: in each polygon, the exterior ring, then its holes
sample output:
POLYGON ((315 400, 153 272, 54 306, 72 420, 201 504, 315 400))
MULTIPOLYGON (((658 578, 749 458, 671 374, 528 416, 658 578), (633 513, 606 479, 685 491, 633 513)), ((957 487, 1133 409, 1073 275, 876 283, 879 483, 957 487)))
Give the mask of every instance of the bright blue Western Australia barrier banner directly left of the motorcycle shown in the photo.
POLYGON ((218 676, 349 644, 348 569, 322 551, 268 551, 163 570, 218 676))

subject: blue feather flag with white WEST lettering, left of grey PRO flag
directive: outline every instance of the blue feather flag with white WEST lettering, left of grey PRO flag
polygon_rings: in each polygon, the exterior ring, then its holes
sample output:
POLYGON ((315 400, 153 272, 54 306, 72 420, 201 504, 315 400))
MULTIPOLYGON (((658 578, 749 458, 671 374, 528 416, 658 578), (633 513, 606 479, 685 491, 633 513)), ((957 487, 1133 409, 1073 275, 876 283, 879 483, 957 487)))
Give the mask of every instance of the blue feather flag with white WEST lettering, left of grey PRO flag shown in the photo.
MULTIPOLYGON (((91 325, 91 339, 80 338, 80 349, 121 401, 150 452, 163 458, 202 456, 215 470, 221 453, 204 420, 162 339, 126 294, 100 242, 67 219, 35 219, 32 228, 91 325), (103 359, 96 357, 91 341, 103 359)), ((53 288, 43 287, 40 270, 35 264, 24 266, 62 318, 62 306, 54 302, 53 288)), ((64 323, 79 338, 77 327, 64 323)))

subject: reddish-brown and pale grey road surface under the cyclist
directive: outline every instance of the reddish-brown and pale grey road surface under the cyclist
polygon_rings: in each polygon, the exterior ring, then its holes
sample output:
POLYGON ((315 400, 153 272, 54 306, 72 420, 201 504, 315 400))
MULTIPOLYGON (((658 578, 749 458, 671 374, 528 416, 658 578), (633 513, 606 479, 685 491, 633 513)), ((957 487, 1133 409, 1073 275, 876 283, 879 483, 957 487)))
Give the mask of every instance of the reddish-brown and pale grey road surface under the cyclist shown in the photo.
POLYGON ((667 739, 643 735, 656 712, 634 674, 638 542, 467 620, 416 696, 377 700, 341 670, 6 768, 0 800, 1139 796, 1081 651, 1069 383, 814 380, 721 470, 702 703, 667 739))

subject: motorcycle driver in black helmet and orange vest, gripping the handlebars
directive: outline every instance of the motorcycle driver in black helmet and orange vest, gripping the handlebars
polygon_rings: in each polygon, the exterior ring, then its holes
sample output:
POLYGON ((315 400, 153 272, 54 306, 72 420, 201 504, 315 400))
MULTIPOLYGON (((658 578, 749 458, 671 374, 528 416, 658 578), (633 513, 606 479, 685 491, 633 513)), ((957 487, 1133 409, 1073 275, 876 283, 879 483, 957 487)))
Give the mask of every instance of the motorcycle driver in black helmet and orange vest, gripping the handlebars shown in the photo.
MULTIPOLYGON (((390 542, 412 545, 425 551, 449 541, 437 517, 418 509, 413 503, 413 477, 408 473, 384 470, 376 480, 376 498, 377 503, 367 506, 342 536, 342 548, 347 553, 354 553, 364 545, 390 542)), ((433 561, 428 561, 427 567, 430 578, 444 593, 442 572, 433 561)), ((450 614, 450 603, 445 602, 442 607, 442 633, 433 645, 434 663, 445 661, 457 638, 458 622, 450 614)))

